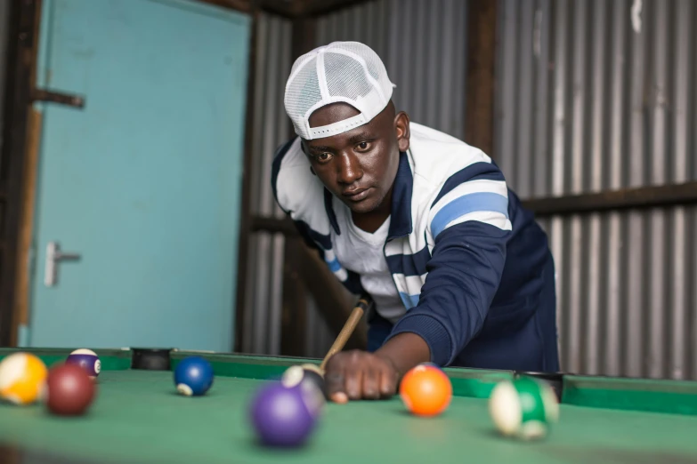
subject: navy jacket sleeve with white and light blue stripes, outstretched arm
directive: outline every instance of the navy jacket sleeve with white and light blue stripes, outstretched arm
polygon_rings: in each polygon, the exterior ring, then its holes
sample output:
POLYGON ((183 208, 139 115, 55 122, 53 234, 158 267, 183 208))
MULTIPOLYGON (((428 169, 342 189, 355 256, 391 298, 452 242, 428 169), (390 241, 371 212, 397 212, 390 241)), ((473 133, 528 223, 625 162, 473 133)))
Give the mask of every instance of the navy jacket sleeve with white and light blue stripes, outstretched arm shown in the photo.
POLYGON ((450 177, 429 215, 433 245, 417 306, 394 325, 421 336, 431 361, 450 364, 487 316, 511 235, 507 186, 495 165, 477 163, 450 177))

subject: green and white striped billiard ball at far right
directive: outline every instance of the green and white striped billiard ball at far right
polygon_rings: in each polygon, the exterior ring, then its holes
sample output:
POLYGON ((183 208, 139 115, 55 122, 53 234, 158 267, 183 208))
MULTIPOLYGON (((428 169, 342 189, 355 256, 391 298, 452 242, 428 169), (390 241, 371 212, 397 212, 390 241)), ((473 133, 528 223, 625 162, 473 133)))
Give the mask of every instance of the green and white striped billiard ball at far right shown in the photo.
POLYGON ((549 385, 522 377, 498 383, 491 391, 489 412, 503 436, 533 440, 547 436, 559 418, 559 404, 549 385))

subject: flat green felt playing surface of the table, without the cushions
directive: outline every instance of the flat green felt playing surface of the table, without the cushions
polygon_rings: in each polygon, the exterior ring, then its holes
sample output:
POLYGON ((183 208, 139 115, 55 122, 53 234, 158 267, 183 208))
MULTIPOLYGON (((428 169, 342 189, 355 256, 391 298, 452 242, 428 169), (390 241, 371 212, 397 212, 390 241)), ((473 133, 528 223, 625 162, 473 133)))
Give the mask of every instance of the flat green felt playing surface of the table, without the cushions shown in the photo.
POLYGON ((486 400, 459 396, 432 419, 410 416, 397 398, 328 404, 307 446, 269 450, 255 444, 247 422, 262 382, 217 377, 209 395, 190 398, 174 393, 171 372, 102 372, 88 415, 2 405, 0 437, 102 462, 697 462, 695 416, 562 405, 547 440, 525 444, 495 433, 486 400))

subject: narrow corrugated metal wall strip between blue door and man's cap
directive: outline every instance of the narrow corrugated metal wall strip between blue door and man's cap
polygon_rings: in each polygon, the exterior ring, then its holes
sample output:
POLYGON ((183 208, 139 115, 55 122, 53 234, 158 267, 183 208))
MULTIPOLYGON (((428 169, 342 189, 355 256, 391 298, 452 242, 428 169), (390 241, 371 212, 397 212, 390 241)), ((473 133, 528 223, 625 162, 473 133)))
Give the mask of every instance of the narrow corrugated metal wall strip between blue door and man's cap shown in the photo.
MULTIPOLYGON (((273 153, 288 140, 290 123, 283 109, 283 89, 290 72, 291 23, 262 14, 257 23, 251 205, 252 215, 284 217, 271 188, 273 153)), ((248 123, 247 123, 248 124, 248 123)), ((282 234, 259 232, 249 237, 247 292, 242 350, 280 354, 281 300, 283 294, 282 234)))

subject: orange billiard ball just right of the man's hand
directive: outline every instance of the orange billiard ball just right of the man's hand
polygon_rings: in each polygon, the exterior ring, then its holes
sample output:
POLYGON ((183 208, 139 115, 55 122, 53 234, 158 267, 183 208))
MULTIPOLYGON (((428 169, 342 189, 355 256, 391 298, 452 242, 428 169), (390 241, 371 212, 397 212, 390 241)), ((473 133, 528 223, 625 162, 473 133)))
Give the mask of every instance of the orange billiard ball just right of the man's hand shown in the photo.
POLYGON ((417 416, 436 416, 448 409, 452 384, 434 365, 419 364, 407 372, 400 384, 401 401, 417 416))

